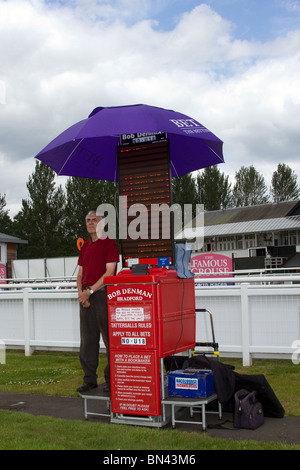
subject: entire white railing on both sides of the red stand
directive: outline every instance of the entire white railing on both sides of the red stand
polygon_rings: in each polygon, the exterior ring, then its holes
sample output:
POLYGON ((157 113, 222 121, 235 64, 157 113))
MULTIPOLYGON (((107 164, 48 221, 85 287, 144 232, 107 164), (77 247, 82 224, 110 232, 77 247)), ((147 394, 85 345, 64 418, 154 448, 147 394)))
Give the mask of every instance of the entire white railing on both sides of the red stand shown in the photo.
MULTIPOLYGON (((291 359, 300 338, 300 275, 243 276, 195 280, 196 307, 213 314, 221 355, 291 359), (214 283, 229 283, 220 286, 214 283), (201 280, 201 282, 203 282, 201 280)), ((14 283, 0 286, 0 341, 7 348, 79 348, 75 282, 14 283)), ((196 341, 211 341, 205 313, 197 313, 196 341)), ((103 345, 102 345, 103 346, 103 345)))

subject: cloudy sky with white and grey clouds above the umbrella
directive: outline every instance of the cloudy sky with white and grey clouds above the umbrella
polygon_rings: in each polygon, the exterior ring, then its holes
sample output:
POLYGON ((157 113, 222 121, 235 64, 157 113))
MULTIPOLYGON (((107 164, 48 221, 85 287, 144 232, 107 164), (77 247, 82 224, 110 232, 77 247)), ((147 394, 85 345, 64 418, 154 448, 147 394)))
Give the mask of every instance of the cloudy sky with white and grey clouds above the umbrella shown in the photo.
MULTIPOLYGON (((0 0, 0 194, 96 106, 149 104, 224 141, 221 169, 300 183, 300 0, 0 0)), ((58 182, 63 183, 63 177, 58 182)))

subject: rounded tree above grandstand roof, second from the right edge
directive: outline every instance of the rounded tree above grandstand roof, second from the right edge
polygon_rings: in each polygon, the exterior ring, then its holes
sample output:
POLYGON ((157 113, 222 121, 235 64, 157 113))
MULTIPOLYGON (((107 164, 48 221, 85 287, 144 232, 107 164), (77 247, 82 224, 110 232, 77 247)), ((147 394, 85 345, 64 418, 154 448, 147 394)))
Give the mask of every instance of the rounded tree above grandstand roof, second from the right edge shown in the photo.
POLYGON ((235 174, 233 187, 233 203, 235 207, 255 206, 267 204, 267 186, 264 177, 256 171, 254 166, 242 167, 235 174))

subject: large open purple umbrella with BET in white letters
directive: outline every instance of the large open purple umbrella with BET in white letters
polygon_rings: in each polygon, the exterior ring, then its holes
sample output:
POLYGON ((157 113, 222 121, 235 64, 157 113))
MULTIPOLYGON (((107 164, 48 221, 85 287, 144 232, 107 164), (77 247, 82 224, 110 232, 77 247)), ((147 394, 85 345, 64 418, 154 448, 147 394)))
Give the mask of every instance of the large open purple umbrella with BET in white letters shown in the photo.
POLYGON ((58 175, 117 181, 117 147, 165 133, 170 142, 172 176, 223 163, 223 142, 184 114, 143 104, 95 108, 87 119, 56 137, 36 158, 58 175))

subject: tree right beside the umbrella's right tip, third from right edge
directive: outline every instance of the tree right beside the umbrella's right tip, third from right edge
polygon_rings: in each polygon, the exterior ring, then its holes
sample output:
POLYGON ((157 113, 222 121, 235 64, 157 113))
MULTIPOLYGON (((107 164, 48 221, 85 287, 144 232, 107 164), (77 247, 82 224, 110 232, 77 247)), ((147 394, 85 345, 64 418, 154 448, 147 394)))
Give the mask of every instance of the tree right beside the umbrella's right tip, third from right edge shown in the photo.
POLYGON ((232 205, 229 176, 221 173, 217 166, 207 167, 197 176, 200 202, 205 210, 227 209, 232 205))

